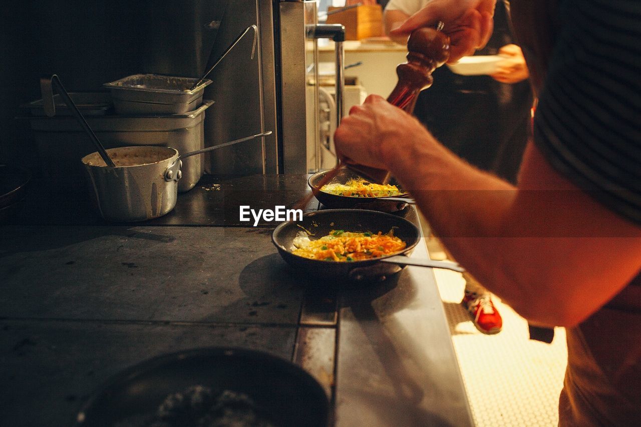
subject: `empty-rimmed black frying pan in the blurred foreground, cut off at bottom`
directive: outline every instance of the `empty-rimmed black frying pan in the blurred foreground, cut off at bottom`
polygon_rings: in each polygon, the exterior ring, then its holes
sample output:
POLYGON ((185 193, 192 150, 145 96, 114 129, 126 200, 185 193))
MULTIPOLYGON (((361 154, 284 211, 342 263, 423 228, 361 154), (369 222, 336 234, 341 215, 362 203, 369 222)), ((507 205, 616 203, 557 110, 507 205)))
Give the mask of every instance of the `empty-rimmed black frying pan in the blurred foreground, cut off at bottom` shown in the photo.
POLYGON ((76 427, 144 423, 166 396, 193 385, 247 394, 275 426, 327 426, 326 394, 303 369, 259 351, 212 347, 158 356, 116 374, 79 412, 76 427))

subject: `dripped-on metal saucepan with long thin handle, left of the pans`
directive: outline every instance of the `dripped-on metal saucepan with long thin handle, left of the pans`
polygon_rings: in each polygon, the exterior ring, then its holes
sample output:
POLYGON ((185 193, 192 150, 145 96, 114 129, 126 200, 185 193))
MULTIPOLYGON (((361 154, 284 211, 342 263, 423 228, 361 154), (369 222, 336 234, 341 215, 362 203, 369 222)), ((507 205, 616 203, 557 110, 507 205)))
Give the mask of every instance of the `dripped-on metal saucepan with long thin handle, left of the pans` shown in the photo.
POLYGON ((118 147, 106 150, 115 167, 107 166, 100 153, 82 158, 100 215, 108 221, 146 221, 165 215, 176 206, 181 159, 258 137, 258 133, 213 147, 178 155, 159 146, 118 147))

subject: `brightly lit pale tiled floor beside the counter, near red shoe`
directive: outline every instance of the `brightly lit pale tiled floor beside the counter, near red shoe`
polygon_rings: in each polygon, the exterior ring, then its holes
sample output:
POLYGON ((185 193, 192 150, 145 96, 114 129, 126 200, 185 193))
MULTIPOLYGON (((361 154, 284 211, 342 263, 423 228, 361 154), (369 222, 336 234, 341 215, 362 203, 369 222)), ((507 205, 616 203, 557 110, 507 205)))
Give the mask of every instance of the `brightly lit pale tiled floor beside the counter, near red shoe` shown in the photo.
MULTIPOLYGON (((443 258, 438 246, 428 244, 428 249, 433 258, 443 258)), ((439 269, 434 273, 476 425, 558 425, 567 361, 565 330, 556 328, 551 344, 529 340, 525 319, 494 297, 503 331, 484 335, 460 305, 465 286, 461 274, 439 269)))

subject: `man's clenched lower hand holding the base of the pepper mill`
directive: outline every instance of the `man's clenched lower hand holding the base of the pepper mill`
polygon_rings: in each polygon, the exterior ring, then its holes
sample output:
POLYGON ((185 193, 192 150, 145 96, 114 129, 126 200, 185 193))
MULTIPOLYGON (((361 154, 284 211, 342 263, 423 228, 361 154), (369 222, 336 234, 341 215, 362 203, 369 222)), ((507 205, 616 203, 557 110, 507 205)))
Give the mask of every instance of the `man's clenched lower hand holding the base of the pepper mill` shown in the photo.
POLYGON ((378 95, 353 106, 334 134, 338 155, 347 163, 388 169, 401 144, 424 141, 431 134, 417 119, 378 95))

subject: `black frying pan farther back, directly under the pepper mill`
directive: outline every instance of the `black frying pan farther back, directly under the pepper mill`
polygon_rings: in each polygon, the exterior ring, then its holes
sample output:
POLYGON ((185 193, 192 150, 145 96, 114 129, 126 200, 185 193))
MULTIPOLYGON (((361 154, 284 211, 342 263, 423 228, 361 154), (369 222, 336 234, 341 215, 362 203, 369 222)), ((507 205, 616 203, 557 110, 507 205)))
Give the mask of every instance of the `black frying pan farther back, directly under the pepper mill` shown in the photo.
MULTIPOLYGON (((310 176, 307 180, 308 185, 312 190, 318 188, 320 181, 331 171, 322 171, 317 172, 310 176)), ((361 178, 356 174, 356 172, 351 171, 350 169, 344 168, 338 171, 337 176, 333 180, 329 181, 328 184, 344 184, 349 180, 354 178, 361 178)), ((408 197, 408 194, 404 192, 401 185, 392 178, 390 184, 396 185, 402 194, 395 197, 347 197, 347 196, 338 196, 337 194, 326 193, 322 190, 319 190, 316 194, 316 198, 323 205, 328 208, 337 208, 337 209, 369 209, 369 210, 378 210, 380 212, 397 212, 403 210, 407 205, 413 205, 414 200, 411 197, 408 197)))

